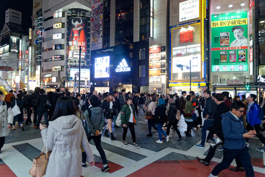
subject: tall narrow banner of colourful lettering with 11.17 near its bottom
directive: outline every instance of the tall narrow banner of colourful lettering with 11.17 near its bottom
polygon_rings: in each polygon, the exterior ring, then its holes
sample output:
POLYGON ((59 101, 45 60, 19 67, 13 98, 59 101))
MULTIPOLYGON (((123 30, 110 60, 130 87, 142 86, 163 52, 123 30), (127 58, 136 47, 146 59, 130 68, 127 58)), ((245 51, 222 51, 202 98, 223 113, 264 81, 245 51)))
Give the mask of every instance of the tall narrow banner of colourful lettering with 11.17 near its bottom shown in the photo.
POLYGON ((102 48, 102 0, 92 1, 91 11, 91 50, 102 48))

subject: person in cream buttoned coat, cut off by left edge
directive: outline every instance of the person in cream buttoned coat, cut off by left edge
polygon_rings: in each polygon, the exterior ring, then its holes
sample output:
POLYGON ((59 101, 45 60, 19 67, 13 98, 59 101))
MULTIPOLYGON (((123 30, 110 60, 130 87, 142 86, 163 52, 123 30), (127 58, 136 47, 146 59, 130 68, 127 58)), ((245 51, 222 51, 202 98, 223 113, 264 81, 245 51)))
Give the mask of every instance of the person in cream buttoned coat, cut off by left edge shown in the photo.
POLYGON ((0 91, 0 154, 1 148, 5 143, 5 136, 10 133, 10 127, 13 123, 13 112, 11 105, 3 99, 3 92, 0 91))

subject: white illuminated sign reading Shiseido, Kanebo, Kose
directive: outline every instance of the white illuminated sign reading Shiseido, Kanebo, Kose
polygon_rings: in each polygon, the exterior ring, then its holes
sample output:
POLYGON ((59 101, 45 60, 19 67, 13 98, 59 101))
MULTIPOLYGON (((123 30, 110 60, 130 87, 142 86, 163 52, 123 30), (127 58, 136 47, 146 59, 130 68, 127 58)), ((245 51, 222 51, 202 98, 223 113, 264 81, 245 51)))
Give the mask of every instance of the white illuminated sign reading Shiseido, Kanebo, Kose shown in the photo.
POLYGON ((199 0, 189 0, 179 3, 179 22, 200 17, 199 0))

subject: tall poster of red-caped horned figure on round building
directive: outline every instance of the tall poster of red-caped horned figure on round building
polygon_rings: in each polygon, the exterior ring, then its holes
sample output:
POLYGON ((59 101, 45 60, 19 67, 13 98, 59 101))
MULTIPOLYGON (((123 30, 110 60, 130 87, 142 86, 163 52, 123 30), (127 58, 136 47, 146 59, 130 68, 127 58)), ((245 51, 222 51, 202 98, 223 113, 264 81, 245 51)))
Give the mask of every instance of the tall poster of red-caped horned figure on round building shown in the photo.
POLYGON ((79 46, 81 46, 81 59, 87 56, 87 20, 85 18, 69 18, 69 48, 68 59, 79 59, 79 46))

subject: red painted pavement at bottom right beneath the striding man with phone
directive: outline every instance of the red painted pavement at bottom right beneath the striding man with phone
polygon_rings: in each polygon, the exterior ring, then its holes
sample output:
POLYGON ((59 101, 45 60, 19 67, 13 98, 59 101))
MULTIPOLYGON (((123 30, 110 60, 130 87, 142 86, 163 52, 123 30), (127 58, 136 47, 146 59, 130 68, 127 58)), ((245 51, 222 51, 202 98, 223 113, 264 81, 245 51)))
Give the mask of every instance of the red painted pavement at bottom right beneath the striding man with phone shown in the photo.
MULTIPOLYGON (((210 166, 205 166, 197 160, 166 160, 155 161, 140 170, 128 175, 128 177, 135 176, 178 176, 178 177, 208 177, 213 168, 218 162, 210 163, 210 166)), ((232 167, 232 166, 230 166, 232 167)), ((232 172, 228 169, 223 170, 218 175, 219 177, 245 177, 245 172, 232 172)), ((255 172, 255 177, 264 177, 264 174, 255 172)))

